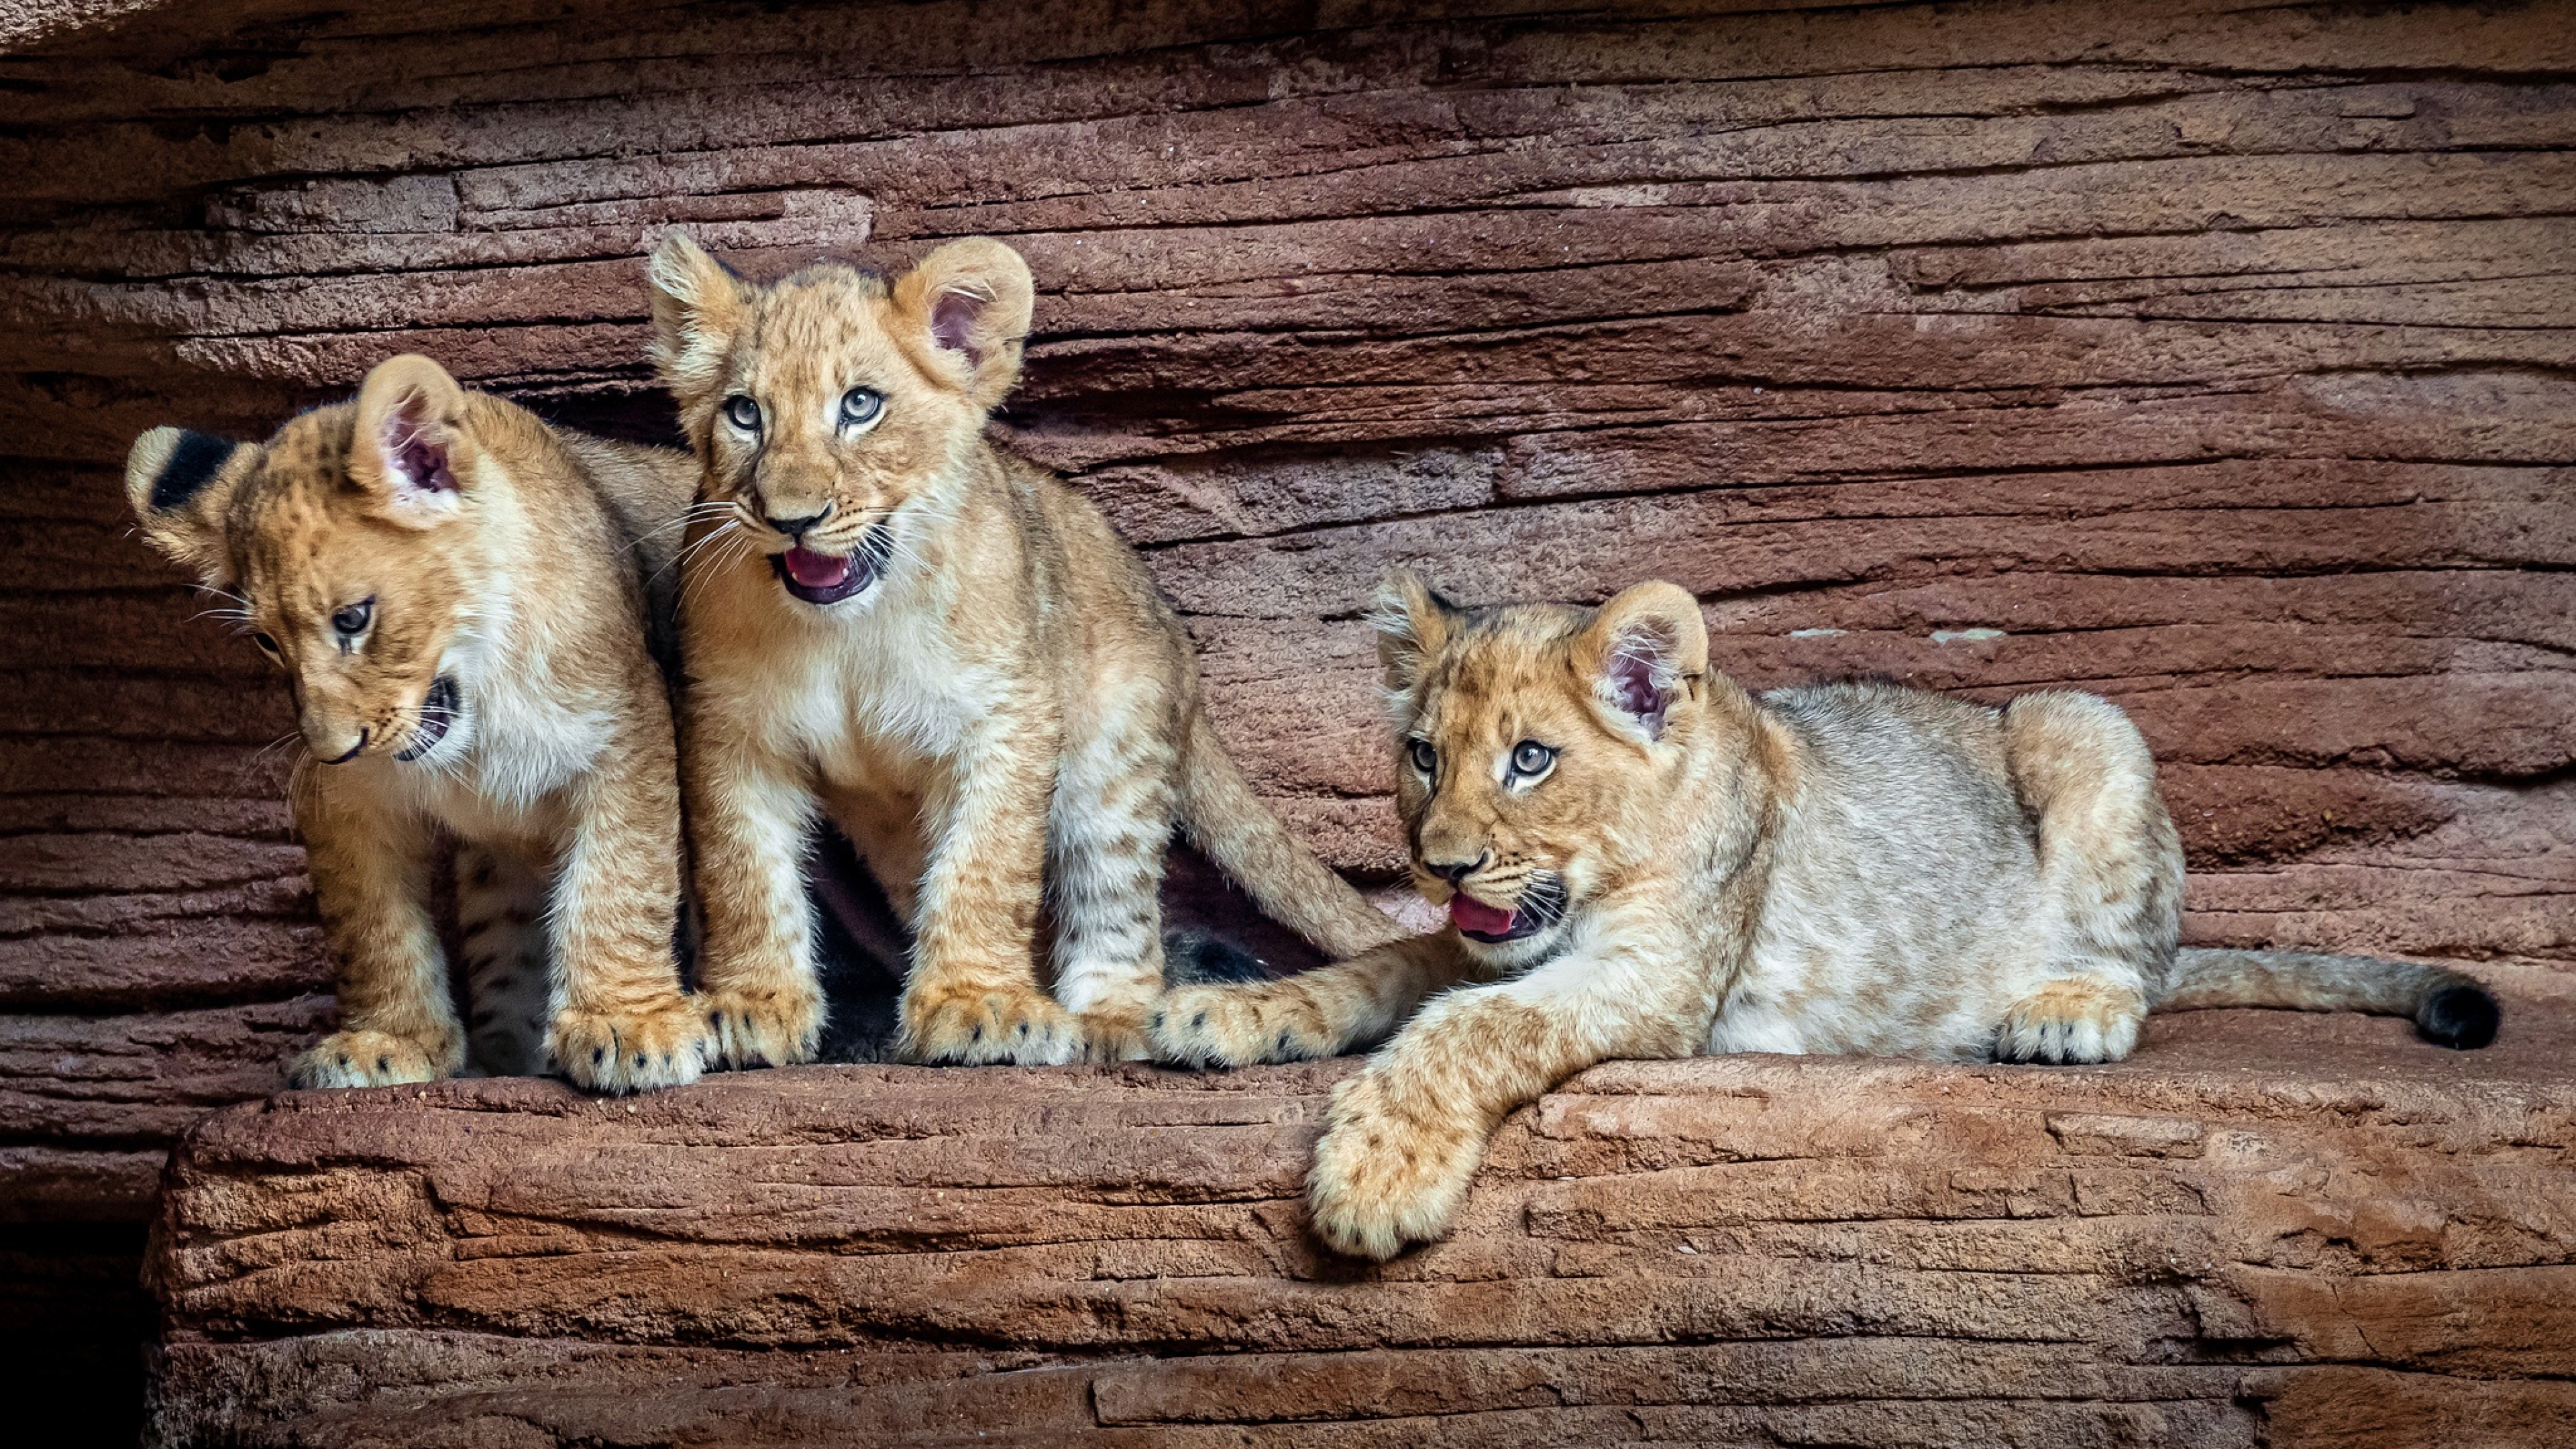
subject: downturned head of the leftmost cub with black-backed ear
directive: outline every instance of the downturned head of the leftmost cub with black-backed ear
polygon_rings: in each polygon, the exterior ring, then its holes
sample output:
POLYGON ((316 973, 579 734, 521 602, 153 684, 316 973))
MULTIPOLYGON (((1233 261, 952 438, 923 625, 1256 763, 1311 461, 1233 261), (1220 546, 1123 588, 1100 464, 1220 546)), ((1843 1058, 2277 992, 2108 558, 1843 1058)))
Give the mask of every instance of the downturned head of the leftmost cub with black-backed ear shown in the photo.
POLYGON ((126 454, 144 539, 234 596, 325 763, 464 748, 448 652, 484 585, 471 413, 446 369, 399 356, 265 443, 152 428, 126 454))

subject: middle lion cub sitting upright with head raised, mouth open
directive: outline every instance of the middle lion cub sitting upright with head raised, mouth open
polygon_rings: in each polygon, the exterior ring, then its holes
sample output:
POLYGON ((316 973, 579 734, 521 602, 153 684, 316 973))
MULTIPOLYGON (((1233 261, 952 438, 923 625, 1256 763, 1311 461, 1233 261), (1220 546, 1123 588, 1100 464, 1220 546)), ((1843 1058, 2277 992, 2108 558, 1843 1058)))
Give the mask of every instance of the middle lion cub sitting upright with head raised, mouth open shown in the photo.
POLYGON ((755 286, 683 235, 654 253, 654 361, 729 505, 693 526, 680 632, 701 987, 732 1065, 814 1055, 817 812, 914 926, 896 1047, 922 1062, 1141 1057, 1175 822, 1327 951, 1399 936, 1226 761, 1100 511, 984 438, 1030 304, 994 240, 891 286, 755 286))

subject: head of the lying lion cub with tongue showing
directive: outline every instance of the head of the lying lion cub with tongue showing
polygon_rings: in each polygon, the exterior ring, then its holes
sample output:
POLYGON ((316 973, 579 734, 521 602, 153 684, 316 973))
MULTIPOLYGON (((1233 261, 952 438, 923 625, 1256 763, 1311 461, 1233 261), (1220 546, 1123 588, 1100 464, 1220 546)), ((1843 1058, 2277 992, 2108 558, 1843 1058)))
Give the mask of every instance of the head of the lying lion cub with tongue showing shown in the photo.
POLYGON ((1700 606, 1643 583, 1600 608, 1458 608, 1394 572, 1370 619, 1414 884, 1494 964, 1548 957, 1667 835, 1710 727, 1700 606))

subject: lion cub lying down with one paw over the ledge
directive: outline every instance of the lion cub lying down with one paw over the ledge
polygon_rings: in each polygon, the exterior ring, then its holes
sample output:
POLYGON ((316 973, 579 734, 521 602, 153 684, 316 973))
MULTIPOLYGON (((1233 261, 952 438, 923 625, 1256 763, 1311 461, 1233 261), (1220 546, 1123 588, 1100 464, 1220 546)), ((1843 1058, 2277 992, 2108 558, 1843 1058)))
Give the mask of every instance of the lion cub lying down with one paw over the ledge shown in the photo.
POLYGON ((2182 846, 2105 699, 2004 709, 1893 683, 1752 696, 1708 673, 1669 583, 1600 611, 1378 598, 1414 877, 1453 931, 1154 1018, 1180 1062, 1327 1057, 1309 1181, 1342 1253, 1437 1238, 1494 1124, 1607 1057, 1862 1052, 2107 1062, 2148 1011, 2414 1016, 2483 1047, 2496 1003, 2437 967, 2177 951, 2182 846))

